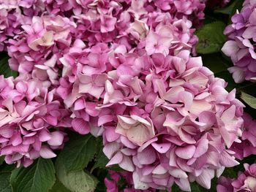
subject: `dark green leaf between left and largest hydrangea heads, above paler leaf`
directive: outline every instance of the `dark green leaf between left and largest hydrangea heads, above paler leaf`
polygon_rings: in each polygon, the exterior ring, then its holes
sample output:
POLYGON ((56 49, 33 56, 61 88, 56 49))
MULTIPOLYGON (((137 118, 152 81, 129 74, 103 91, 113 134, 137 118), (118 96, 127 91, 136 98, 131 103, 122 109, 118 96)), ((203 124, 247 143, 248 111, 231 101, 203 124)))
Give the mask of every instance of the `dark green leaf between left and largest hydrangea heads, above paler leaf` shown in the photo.
POLYGON ((77 135, 67 142, 64 149, 59 153, 58 159, 67 172, 78 171, 89 164, 95 153, 97 153, 96 139, 90 134, 77 135))

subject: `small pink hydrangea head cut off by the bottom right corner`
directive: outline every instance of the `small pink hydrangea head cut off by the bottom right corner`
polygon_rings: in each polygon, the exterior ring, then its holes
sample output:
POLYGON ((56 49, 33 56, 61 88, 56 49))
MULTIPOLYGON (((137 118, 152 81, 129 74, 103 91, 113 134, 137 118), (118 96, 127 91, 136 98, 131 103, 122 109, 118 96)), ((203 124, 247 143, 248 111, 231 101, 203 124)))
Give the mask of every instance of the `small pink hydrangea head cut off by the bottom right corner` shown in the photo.
POLYGON ((256 164, 244 164, 236 179, 220 177, 217 192, 256 191, 256 164))

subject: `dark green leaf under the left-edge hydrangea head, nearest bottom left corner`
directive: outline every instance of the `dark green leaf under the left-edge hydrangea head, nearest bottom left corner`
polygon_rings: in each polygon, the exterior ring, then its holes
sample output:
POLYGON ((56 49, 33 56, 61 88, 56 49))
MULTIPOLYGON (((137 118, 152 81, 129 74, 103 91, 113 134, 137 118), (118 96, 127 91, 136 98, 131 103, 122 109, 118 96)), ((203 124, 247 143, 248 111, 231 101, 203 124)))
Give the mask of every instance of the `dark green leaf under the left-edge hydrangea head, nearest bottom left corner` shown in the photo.
POLYGON ((39 158, 27 168, 14 169, 10 180, 14 192, 47 192, 56 180, 53 162, 39 158))

